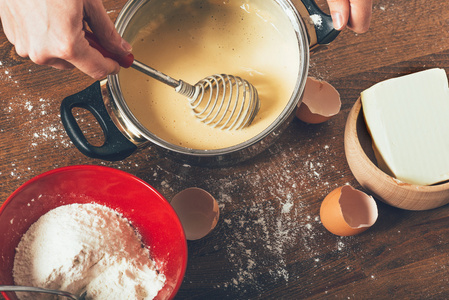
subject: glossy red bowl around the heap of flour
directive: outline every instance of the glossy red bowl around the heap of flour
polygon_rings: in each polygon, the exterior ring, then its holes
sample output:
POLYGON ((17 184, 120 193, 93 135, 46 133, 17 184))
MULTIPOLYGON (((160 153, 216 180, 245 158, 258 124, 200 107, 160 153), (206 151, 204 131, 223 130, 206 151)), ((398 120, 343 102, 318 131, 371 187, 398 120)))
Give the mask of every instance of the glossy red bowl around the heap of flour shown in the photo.
MULTIPOLYGON (((187 266, 187 242, 168 201, 141 179, 100 166, 71 166, 43 173, 20 186, 0 207, 0 284, 14 284, 15 248, 48 211, 71 203, 98 203, 123 214, 142 235, 166 276, 156 299, 172 299, 187 266)), ((3 293, 17 299, 14 293, 3 293)))

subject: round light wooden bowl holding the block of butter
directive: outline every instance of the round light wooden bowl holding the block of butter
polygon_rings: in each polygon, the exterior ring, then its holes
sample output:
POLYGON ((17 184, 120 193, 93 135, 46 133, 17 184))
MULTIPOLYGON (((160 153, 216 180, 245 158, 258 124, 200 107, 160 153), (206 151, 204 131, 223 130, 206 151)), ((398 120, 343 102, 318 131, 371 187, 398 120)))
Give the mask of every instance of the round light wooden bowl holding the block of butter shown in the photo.
POLYGON ((355 179, 373 197, 407 210, 427 210, 449 203, 448 182, 431 186, 408 184, 377 167, 360 98, 346 121, 344 142, 349 168, 355 179))

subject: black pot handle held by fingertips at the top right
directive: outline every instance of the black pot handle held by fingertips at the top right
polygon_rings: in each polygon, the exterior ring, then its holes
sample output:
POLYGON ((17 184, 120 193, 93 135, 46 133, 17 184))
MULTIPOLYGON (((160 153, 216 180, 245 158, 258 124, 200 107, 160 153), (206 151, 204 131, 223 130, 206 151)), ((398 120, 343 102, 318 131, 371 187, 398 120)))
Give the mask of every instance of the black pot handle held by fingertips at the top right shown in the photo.
POLYGON ((319 24, 314 24, 317 43, 320 45, 326 45, 332 42, 340 33, 339 30, 334 28, 332 23, 332 17, 324 13, 314 0, 301 0, 310 16, 318 15, 321 18, 319 24))

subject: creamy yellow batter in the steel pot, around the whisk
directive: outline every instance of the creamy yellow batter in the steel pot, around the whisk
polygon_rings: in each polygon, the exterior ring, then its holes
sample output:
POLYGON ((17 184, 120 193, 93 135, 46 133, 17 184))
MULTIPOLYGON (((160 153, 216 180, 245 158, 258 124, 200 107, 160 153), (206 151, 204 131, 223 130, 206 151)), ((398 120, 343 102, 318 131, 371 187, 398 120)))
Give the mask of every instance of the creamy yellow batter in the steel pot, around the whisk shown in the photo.
POLYGON ((160 1, 156 17, 133 41, 136 59, 175 79, 195 84, 225 73, 248 80, 261 101, 253 123, 242 130, 212 128, 173 88, 122 69, 122 93, 142 125, 172 144, 211 150, 247 141, 273 123, 294 91, 299 49, 282 9, 274 1, 259 2, 160 1))

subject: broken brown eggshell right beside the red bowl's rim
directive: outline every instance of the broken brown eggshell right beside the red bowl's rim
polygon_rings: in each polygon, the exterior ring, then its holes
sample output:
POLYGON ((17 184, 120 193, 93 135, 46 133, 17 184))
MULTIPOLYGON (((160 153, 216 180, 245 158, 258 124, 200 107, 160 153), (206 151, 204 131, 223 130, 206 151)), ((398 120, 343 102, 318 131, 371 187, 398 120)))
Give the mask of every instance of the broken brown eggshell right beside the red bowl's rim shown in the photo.
POLYGON ((176 194, 170 202, 181 221, 187 240, 198 240, 217 225, 218 203, 207 191, 192 187, 176 194))

